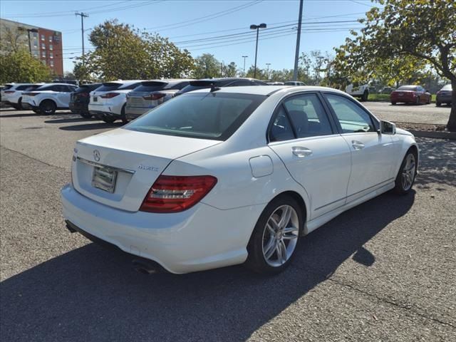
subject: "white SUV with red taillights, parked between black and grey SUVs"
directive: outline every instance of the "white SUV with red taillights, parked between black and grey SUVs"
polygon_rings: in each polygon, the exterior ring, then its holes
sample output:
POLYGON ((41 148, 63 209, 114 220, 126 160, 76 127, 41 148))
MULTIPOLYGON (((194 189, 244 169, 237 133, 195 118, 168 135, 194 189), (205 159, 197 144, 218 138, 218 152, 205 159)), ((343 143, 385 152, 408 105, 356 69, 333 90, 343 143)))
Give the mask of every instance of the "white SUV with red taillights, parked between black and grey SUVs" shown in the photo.
POLYGON ((115 120, 127 122, 125 117, 125 104, 127 93, 141 85, 136 81, 112 81, 105 82, 103 86, 90 93, 88 111, 105 123, 113 123, 115 120))

